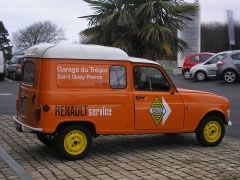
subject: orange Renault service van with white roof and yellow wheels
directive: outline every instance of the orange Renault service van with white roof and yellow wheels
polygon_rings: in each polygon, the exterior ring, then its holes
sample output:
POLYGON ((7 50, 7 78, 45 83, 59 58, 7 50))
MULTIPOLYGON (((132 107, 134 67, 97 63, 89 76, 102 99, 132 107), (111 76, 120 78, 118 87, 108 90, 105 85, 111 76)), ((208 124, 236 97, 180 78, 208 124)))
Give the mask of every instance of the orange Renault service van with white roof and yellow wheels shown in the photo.
POLYGON ((215 146, 231 125, 226 98, 176 88, 158 63, 96 45, 28 49, 16 104, 17 130, 68 159, 86 156, 99 135, 196 133, 215 146))

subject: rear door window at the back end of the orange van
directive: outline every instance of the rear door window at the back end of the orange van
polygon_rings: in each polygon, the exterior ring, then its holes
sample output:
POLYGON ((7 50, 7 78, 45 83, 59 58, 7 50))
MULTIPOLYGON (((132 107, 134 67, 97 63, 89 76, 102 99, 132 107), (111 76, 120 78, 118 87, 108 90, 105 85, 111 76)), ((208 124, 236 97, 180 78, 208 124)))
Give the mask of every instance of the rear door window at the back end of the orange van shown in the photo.
POLYGON ((35 64, 26 61, 23 66, 23 83, 33 85, 35 82, 35 64))

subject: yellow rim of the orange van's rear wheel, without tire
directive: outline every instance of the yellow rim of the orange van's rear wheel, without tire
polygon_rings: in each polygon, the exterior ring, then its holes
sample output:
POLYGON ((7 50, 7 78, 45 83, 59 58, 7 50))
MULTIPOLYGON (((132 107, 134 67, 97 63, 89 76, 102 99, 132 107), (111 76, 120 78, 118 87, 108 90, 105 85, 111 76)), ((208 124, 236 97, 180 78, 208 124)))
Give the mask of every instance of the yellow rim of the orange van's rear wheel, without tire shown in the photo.
POLYGON ((64 148, 71 155, 81 154, 86 147, 87 137, 80 130, 73 130, 64 138, 64 148))

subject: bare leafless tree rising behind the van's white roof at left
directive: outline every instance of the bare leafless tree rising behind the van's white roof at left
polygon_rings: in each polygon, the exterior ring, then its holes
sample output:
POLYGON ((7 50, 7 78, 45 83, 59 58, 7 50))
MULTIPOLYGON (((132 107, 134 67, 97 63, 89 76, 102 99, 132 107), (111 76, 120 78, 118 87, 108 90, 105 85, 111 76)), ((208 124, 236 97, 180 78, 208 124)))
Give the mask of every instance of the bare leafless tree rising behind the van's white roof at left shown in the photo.
POLYGON ((65 39, 64 30, 51 21, 36 22, 13 33, 13 44, 22 51, 35 44, 57 43, 65 39))

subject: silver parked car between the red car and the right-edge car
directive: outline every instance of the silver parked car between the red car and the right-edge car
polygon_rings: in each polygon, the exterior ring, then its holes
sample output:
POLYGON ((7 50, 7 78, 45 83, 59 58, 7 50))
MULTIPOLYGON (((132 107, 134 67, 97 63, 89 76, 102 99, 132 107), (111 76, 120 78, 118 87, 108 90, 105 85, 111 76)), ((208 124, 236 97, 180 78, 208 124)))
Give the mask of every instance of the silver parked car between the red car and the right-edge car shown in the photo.
POLYGON ((205 81, 207 78, 216 77, 217 62, 232 51, 224 51, 216 54, 207 61, 197 64, 190 69, 189 78, 197 81, 205 81))

